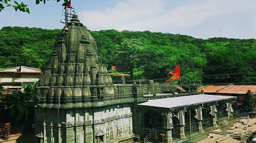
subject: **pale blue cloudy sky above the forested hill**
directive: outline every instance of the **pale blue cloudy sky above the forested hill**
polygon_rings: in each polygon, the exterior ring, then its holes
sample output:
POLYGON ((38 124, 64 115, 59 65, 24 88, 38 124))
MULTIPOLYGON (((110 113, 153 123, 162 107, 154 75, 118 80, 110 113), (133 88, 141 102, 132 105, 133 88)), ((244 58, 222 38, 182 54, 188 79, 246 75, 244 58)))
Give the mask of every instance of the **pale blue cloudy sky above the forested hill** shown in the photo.
MULTIPOLYGON (((30 6, 30 14, 5 8, 4 26, 61 29, 63 0, 16 0, 30 6)), ((72 0, 78 19, 89 30, 151 31, 195 38, 256 38, 256 0, 72 0)))

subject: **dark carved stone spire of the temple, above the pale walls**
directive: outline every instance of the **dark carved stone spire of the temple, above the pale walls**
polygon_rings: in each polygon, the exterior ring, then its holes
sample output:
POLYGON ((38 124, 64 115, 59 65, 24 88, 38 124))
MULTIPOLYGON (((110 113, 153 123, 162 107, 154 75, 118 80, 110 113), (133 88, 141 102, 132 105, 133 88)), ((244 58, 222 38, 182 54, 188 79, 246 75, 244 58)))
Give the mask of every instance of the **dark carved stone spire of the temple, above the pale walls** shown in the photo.
POLYGON ((44 74, 38 93, 47 103, 100 101, 100 90, 107 94, 115 87, 107 68, 98 56, 96 42, 88 29, 73 14, 68 27, 62 30, 44 74), (105 87, 107 87, 105 89, 105 87), (98 90, 100 88, 100 90, 98 90))

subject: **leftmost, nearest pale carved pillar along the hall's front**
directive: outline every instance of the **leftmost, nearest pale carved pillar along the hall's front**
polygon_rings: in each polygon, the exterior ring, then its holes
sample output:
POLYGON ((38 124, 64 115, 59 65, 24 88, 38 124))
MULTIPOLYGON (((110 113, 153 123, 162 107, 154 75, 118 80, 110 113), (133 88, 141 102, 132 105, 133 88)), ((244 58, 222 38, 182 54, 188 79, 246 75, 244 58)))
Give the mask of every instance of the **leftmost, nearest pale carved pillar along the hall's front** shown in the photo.
POLYGON ((172 143, 172 111, 168 111, 164 113, 164 130, 165 130, 165 143, 172 143))

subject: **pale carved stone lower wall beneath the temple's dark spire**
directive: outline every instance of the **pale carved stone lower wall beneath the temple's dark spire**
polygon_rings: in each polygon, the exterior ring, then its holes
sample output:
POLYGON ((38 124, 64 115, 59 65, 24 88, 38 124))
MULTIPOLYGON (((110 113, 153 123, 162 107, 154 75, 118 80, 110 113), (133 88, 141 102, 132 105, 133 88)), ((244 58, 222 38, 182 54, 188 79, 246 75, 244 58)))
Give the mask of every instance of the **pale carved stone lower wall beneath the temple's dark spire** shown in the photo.
POLYGON ((44 109, 44 113, 36 111, 35 121, 36 134, 42 132, 44 143, 96 143, 99 129, 104 133, 104 141, 119 141, 124 137, 133 140, 130 105, 44 109))

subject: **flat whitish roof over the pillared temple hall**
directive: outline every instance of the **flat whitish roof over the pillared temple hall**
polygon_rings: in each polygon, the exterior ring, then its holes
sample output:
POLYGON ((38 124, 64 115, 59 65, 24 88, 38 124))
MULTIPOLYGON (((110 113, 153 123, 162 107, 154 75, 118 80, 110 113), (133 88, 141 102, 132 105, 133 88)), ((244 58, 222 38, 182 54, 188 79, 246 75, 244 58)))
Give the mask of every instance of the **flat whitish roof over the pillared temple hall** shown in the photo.
POLYGON ((152 107, 163 107, 163 108, 174 108, 174 107, 183 107, 188 105, 194 105, 204 102, 220 101, 224 99, 236 99, 234 96, 222 96, 222 95, 191 95, 191 96, 182 96, 182 97, 173 97, 173 98, 163 98, 163 99, 154 99, 149 100, 138 105, 143 106, 152 106, 152 107))

